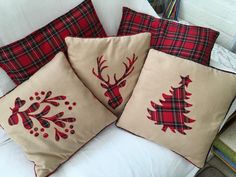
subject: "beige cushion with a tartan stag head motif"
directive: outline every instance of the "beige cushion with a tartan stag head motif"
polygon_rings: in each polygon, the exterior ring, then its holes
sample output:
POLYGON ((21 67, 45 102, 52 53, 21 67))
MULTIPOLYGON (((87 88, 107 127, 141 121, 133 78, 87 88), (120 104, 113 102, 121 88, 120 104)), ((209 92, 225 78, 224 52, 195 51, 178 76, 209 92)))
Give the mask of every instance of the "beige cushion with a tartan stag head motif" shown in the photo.
POLYGON ((93 94, 120 115, 146 58, 150 33, 102 39, 66 38, 76 73, 93 94))

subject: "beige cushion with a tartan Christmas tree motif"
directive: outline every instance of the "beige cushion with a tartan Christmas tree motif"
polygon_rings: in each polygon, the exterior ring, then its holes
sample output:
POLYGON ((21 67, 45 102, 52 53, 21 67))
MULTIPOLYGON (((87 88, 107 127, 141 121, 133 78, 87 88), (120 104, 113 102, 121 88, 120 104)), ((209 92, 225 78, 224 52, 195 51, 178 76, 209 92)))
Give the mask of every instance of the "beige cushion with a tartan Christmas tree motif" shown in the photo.
POLYGON ((203 167, 236 96, 236 75, 150 50, 118 126, 203 167))

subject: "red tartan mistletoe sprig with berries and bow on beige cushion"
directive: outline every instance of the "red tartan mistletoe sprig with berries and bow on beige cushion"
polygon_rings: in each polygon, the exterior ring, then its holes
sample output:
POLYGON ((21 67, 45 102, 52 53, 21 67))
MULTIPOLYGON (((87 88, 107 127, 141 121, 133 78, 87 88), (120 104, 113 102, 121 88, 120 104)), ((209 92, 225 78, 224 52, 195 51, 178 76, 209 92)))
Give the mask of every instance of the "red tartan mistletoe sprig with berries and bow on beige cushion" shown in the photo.
MULTIPOLYGON (((34 96, 29 97, 29 100, 33 103, 28 108, 24 109, 23 106, 25 105, 26 101, 21 100, 19 97, 16 98, 14 108, 10 108, 12 115, 8 119, 9 125, 17 125, 19 123, 19 118, 21 118, 24 128, 29 130, 30 134, 34 134, 34 136, 37 137, 41 133, 44 138, 48 138, 49 136, 49 134, 46 132, 46 129, 53 126, 55 130, 56 141, 59 141, 60 138, 68 138, 69 133, 74 134, 73 123, 76 121, 75 118, 63 118, 63 111, 55 115, 48 115, 54 106, 58 107, 60 102, 66 100, 66 96, 51 97, 51 95, 51 91, 48 91, 47 93, 44 91, 41 91, 40 93, 35 92, 34 96), (34 126, 34 121, 36 120, 39 122, 42 128, 39 129, 38 127, 34 126)), ((69 110, 72 110, 72 106, 70 106, 68 101, 65 101, 64 104, 68 106, 69 110)), ((75 106, 76 103, 73 102, 72 105, 75 106)))

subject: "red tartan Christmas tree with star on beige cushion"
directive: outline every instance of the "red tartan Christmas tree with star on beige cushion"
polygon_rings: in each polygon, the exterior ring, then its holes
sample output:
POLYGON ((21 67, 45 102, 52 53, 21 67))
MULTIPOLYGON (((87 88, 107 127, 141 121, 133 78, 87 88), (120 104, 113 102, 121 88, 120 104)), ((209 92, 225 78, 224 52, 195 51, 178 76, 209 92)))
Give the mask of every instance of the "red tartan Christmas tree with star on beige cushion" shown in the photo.
POLYGON ((170 95, 163 93, 162 96, 164 100, 159 100, 161 104, 156 104, 151 101, 151 106, 154 110, 147 109, 149 113, 147 118, 154 121, 156 125, 162 125, 162 131, 166 132, 169 128, 174 133, 178 131, 186 135, 184 131, 192 129, 190 126, 186 125, 186 123, 195 121, 187 117, 190 111, 186 110, 186 108, 192 106, 192 104, 185 101, 192 95, 186 91, 190 82, 192 81, 189 75, 186 77, 181 76, 180 86, 177 88, 171 87, 170 95))

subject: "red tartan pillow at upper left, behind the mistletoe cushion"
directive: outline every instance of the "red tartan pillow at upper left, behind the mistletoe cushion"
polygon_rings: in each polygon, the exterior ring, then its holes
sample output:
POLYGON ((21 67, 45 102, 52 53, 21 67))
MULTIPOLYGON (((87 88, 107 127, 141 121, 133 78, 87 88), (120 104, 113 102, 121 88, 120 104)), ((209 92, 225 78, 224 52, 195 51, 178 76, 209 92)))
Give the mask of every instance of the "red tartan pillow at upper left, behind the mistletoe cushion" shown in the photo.
POLYGON ((64 39, 67 36, 106 36, 91 0, 85 0, 27 37, 0 48, 0 66, 20 84, 59 51, 66 51, 64 39))

